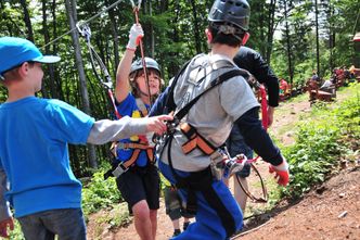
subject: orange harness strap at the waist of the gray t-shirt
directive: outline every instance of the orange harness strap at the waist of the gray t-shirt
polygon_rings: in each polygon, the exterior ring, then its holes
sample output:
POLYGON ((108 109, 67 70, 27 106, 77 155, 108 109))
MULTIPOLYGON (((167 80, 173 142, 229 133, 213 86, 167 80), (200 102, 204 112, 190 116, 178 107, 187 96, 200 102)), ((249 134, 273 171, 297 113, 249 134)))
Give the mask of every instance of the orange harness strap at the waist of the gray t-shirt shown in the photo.
POLYGON ((188 154, 193 151, 195 148, 198 148, 203 153, 207 155, 211 155, 216 148, 208 142, 203 136, 201 136, 196 129, 188 123, 183 123, 180 125, 181 131, 189 139, 185 143, 182 144, 183 153, 188 154))

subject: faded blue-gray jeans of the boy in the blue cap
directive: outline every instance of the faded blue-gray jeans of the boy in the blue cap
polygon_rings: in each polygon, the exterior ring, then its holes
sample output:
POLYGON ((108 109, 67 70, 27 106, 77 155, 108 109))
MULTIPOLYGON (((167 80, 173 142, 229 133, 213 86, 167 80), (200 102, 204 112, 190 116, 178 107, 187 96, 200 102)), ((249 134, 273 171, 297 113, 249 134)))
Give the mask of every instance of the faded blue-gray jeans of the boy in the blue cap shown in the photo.
POLYGON ((81 209, 50 210, 18 217, 26 240, 86 240, 81 209))

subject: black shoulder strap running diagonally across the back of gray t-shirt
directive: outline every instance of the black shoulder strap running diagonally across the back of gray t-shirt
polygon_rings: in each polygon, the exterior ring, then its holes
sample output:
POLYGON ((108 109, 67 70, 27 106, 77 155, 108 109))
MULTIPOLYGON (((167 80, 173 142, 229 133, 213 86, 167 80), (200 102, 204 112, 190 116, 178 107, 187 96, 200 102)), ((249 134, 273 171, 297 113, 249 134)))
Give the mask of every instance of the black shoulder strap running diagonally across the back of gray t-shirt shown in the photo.
POLYGON ((180 122, 182 119, 182 117, 184 117, 188 112, 190 111, 190 109, 197 102, 197 100, 205 94, 206 92, 208 92, 209 90, 211 90, 213 88, 215 88, 216 86, 218 86, 219 84, 235 77, 235 76, 243 76, 245 79, 247 79, 249 77, 249 74, 247 71, 244 70, 232 70, 229 71, 222 75, 220 75, 218 78, 216 78, 215 80, 211 81, 210 86, 207 87, 202 93, 200 93, 198 96, 196 96, 193 100, 191 100, 184 108, 182 108, 179 112, 177 112, 177 114, 173 116, 173 119, 176 122, 180 122))

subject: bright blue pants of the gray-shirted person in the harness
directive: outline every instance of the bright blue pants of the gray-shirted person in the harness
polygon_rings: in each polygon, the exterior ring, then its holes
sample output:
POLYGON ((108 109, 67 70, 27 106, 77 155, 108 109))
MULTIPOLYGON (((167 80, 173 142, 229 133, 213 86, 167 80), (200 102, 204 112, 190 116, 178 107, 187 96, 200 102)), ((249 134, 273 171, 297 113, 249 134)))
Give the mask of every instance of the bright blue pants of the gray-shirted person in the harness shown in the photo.
MULTIPOLYGON (((163 175, 171 182, 176 184, 175 177, 169 165, 164 164, 158 161, 158 166, 163 175)), ((185 177, 189 173, 176 170, 181 177, 185 177)), ((224 223, 221 220, 221 214, 219 215, 220 209, 214 207, 205 199, 206 197, 203 192, 196 191, 196 203, 197 212, 195 215, 195 222, 192 223, 185 231, 181 235, 171 238, 172 240, 224 240, 229 239, 227 236, 227 230, 224 224, 234 225, 232 229, 234 233, 241 230, 243 227, 243 214, 239 207, 236 201, 232 197, 229 188, 220 180, 214 179, 211 182, 211 188, 214 189, 216 197, 220 199, 220 203, 226 207, 231 216, 233 223, 224 223)), ((179 189, 179 194, 183 201, 187 200, 188 191, 185 189, 179 189)), ((223 216, 223 215, 222 215, 223 216)))

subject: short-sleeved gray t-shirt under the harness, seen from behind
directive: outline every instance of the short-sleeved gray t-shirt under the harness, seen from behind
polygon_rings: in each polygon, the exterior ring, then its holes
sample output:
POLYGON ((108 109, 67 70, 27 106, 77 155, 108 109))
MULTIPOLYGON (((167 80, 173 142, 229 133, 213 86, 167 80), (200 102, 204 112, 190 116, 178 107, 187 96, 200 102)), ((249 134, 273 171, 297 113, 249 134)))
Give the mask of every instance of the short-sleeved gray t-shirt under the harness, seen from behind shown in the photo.
MULTIPOLYGON (((221 74, 239 68, 231 59, 215 54, 200 54, 193 58, 183 74, 179 77, 173 90, 177 111, 198 96, 221 74), (229 61, 230 67, 217 68, 218 61, 229 61)), ((200 135, 213 146, 220 147, 230 135, 233 123, 248 110, 258 106, 253 90, 242 76, 223 81, 202 96, 190 109, 181 122, 194 126, 200 135)), ((171 160, 176 169, 197 172, 210 164, 210 157, 195 149, 189 154, 182 152, 181 146, 188 138, 176 129, 171 144, 171 160)), ((160 161, 168 164, 167 148, 164 148, 160 161)))

